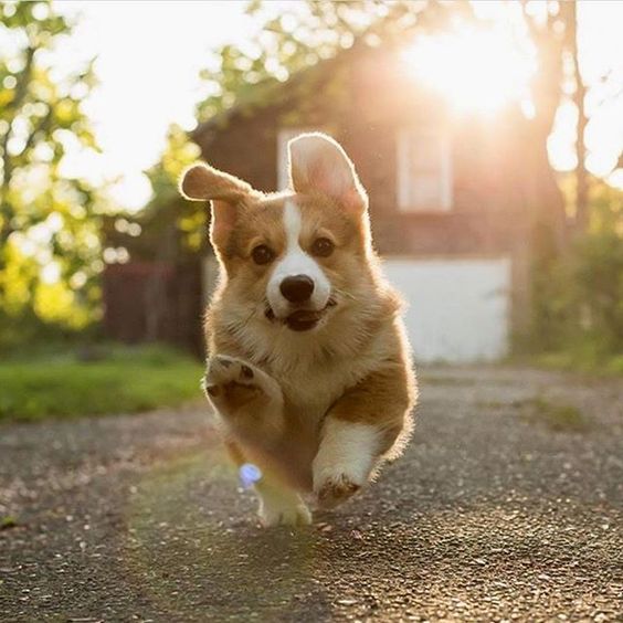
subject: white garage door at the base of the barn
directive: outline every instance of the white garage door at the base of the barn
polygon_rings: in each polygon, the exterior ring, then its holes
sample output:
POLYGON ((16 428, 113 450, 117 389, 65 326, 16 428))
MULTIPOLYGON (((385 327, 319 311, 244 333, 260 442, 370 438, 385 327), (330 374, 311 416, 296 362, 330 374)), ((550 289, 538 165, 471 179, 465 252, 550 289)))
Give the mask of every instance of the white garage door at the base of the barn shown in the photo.
POLYGON ((508 351, 510 261, 384 260, 416 361, 490 361, 508 351))

